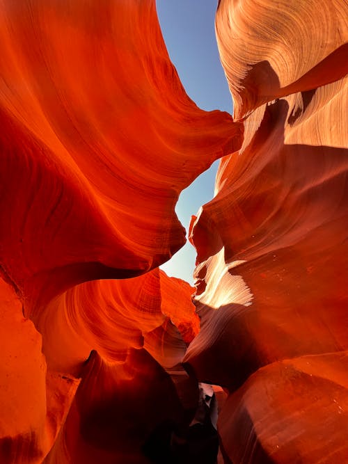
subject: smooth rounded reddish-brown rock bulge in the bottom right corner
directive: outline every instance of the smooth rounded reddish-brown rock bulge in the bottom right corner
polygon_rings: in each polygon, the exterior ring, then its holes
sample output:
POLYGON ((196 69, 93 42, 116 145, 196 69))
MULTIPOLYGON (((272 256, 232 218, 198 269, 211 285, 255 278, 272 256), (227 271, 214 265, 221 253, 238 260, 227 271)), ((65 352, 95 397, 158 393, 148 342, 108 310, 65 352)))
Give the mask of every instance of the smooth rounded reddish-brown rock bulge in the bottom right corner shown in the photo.
POLYGON ((219 417, 225 463, 345 463, 347 361, 309 355, 253 374, 219 417))

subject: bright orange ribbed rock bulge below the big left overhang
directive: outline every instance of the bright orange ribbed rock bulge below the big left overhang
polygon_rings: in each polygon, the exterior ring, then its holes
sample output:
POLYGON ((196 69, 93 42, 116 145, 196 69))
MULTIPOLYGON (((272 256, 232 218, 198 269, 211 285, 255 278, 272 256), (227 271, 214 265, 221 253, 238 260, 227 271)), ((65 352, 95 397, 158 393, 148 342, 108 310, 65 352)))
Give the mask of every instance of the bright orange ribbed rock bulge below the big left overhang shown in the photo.
POLYGON ((52 371, 79 376, 93 350, 106 362, 124 362, 130 348, 143 347, 170 369, 199 331, 192 293, 187 282, 155 269, 137 278, 77 285, 32 319, 45 334, 42 352, 52 371))

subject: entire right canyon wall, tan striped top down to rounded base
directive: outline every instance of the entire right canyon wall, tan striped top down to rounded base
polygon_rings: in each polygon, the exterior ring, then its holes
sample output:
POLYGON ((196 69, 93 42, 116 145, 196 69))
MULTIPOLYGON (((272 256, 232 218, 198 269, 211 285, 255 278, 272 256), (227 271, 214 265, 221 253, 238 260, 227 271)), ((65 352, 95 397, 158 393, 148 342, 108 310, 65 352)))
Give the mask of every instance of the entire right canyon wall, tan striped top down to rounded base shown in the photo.
POLYGON ((225 463, 348 460, 347 13, 221 0, 216 14, 244 141, 191 221, 202 320, 184 362, 228 392, 225 463))

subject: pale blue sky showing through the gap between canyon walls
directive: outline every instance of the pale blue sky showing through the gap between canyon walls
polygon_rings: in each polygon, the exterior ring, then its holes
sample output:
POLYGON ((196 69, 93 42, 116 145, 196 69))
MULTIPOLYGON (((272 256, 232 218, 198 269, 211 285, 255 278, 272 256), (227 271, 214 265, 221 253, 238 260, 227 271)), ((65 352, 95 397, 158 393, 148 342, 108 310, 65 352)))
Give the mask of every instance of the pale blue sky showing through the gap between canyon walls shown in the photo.
MULTIPOLYGON (((232 113, 232 99, 215 38, 217 1, 157 0, 156 4, 168 53, 189 97, 202 109, 232 113)), ((176 212, 186 230, 191 215, 214 195, 217 166, 219 161, 180 195, 176 212)), ((161 269, 192 284, 195 261, 196 250, 187 242, 161 269)))

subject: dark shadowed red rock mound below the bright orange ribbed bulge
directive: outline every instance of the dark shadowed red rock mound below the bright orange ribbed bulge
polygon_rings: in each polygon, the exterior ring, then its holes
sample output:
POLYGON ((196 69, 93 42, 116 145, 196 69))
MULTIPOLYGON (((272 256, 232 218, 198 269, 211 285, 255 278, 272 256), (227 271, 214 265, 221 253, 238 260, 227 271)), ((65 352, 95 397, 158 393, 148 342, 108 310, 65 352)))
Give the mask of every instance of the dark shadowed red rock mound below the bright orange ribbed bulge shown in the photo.
MULTIPOLYGON (((72 408, 45 463, 150 463, 143 449, 151 433, 166 424, 191 422, 175 384, 145 350, 131 349, 123 363, 91 355, 72 408)), ((195 392, 196 393, 196 392, 195 392)), ((161 442, 157 442, 161 447, 161 442)))

